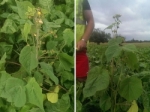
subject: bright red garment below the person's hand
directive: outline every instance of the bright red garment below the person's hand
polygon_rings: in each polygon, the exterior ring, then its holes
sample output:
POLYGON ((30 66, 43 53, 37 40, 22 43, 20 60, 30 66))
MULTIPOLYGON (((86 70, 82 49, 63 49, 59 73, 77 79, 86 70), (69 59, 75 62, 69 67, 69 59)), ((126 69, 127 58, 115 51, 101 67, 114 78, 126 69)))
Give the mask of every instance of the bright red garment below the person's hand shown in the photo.
POLYGON ((86 49, 76 52, 76 77, 87 77, 89 70, 89 61, 86 55, 86 49))

